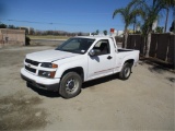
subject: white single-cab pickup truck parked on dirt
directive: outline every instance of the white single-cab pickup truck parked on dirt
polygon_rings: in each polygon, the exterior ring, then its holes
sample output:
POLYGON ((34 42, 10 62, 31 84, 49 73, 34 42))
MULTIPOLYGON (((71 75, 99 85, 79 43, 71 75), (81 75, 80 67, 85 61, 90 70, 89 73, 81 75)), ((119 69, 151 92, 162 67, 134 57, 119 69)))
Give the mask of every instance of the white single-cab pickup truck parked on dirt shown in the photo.
POLYGON ((127 80, 138 60, 139 50, 118 49, 114 37, 77 36, 56 49, 26 55, 21 76, 35 87, 71 98, 83 82, 118 72, 127 80))

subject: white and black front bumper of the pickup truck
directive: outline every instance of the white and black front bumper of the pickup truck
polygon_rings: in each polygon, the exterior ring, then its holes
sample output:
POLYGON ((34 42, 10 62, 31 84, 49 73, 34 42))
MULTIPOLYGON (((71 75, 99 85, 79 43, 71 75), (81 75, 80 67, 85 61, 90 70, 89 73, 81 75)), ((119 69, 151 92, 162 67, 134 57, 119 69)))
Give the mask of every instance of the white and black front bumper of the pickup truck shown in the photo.
POLYGON ((40 78, 31 74, 24 68, 21 69, 21 78, 37 88, 43 88, 48 91, 58 91, 59 88, 60 79, 40 78))

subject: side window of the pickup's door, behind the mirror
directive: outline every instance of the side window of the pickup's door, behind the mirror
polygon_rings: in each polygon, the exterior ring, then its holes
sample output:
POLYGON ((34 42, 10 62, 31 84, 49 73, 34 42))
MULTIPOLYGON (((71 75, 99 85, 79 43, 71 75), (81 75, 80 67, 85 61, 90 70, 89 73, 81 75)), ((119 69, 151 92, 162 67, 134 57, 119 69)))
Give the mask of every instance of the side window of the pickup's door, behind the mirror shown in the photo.
POLYGON ((93 49, 100 50, 98 55, 107 55, 110 53, 108 39, 98 40, 93 49))

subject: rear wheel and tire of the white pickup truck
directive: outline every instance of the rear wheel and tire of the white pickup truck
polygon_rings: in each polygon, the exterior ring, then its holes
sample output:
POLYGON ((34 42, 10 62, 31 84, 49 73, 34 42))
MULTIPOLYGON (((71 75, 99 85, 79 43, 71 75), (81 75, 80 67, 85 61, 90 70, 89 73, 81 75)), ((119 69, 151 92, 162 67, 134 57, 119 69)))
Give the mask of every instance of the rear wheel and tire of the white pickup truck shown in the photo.
POLYGON ((125 63, 121 72, 119 72, 119 79, 128 80, 131 74, 131 63, 125 63))

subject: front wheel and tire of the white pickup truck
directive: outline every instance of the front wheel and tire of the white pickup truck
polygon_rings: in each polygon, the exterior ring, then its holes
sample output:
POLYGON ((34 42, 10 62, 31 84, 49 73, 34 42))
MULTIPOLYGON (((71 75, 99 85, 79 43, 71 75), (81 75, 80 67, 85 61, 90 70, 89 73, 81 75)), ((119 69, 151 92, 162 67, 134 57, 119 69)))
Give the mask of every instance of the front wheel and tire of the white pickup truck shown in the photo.
POLYGON ((72 98, 80 93, 81 86, 81 76, 75 72, 68 72, 60 81, 59 94, 63 98, 72 98))

